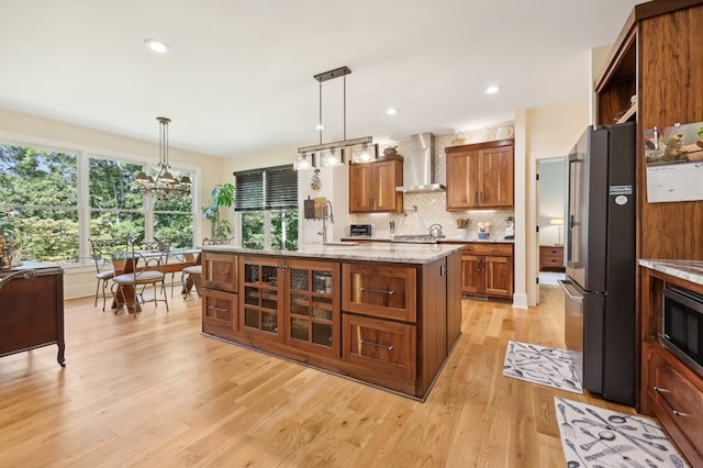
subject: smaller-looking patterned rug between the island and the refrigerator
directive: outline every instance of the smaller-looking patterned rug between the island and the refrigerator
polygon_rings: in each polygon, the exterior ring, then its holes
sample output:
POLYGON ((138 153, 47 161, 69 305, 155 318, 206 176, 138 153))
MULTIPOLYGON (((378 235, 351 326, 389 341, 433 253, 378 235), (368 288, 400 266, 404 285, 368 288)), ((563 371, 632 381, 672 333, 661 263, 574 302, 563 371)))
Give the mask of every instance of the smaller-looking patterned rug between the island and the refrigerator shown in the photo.
POLYGON ((566 349, 509 342, 503 376, 583 393, 573 361, 566 349))

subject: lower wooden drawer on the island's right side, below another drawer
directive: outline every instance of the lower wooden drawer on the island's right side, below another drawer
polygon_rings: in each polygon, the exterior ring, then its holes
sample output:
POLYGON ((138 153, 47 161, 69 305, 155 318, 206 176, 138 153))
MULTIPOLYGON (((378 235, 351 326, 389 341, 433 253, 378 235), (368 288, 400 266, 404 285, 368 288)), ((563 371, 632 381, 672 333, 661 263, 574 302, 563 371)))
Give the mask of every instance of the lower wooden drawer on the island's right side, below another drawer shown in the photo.
POLYGON ((343 359, 357 364, 372 380, 392 375, 415 379, 415 326, 343 314, 343 359), (377 378, 373 378, 373 377, 377 378))

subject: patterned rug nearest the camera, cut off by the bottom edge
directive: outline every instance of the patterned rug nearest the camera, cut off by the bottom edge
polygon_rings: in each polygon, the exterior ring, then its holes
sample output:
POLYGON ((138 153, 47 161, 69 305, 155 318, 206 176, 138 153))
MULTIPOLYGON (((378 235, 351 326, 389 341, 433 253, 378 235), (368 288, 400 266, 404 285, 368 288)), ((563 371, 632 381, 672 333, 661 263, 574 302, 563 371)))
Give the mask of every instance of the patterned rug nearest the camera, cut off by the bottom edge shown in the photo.
POLYGON ((555 397, 567 467, 674 467, 689 465, 652 421, 555 397))

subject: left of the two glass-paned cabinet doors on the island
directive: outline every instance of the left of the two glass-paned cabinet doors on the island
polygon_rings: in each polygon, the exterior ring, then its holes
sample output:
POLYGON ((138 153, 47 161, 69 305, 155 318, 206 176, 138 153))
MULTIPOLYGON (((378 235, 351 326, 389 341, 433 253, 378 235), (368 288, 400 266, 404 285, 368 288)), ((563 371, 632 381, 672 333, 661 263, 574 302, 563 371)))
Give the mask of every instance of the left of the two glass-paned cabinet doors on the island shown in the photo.
POLYGON ((243 287, 239 291, 239 331, 280 341, 282 261, 243 256, 239 268, 243 287))

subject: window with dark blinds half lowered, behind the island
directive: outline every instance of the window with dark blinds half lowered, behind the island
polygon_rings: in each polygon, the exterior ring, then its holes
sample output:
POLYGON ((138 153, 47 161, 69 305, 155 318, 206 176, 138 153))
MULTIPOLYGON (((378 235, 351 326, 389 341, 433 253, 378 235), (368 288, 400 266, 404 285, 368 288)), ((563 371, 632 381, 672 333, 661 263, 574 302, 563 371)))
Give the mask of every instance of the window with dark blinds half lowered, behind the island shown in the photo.
POLYGON ((298 248, 298 172, 292 165, 234 174, 242 246, 298 248))

